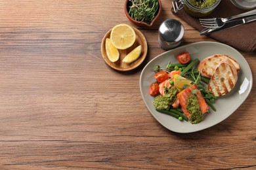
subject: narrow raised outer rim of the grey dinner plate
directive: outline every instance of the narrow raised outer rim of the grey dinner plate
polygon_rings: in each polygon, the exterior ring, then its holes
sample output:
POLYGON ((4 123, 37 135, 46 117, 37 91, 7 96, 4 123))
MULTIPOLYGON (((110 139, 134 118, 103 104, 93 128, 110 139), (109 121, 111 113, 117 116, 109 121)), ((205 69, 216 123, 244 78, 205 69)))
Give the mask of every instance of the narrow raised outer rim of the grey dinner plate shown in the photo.
MULTIPOLYGON (((207 57, 207 56, 205 56, 205 58, 206 58, 206 57, 207 57)), ((144 104, 146 105, 146 107, 147 107, 147 109, 149 110, 150 114, 152 114, 152 116, 154 116, 154 118, 156 118, 156 120, 157 120, 162 126, 164 126, 165 128, 169 129, 170 131, 174 131, 174 132, 177 132, 177 133, 192 133, 192 132, 196 132, 196 131, 202 131, 203 129, 207 129, 207 128, 209 128, 209 127, 215 126, 215 125, 217 125, 217 124, 223 122, 224 120, 226 120, 226 118, 228 118, 229 116, 231 116, 231 114, 233 114, 233 113, 238 109, 238 107, 240 107, 240 106, 242 105, 242 103, 244 103, 244 101, 245 101, 245 99, 247 99, 249 93, 251 93, 251 89, 252 89, 252 86, 253 86, 253 76, 252 76, 252 73, 251 73, 251 68, 249 67, 249 63, 247 63, 247 60, 244 58, 244 56, 243 56, 240 52, 238 52, 238 50, 236 50, 236 49, 233 48, 232 46, 229 46, 229 45, 227 45, 227 44, 223 44, 223 43, 221 43, 221 42, 201 41, 201 42, 193 42, 193 43, 190 43, 190 44, 185 44, 185 45, 183 45, 183 46, 179 46, 179 47, 177 47, 177 48, 175 48, 175 49, 172 49, 172 50, 163 52, 163 53, 159 54, 158 56, 156 56, 155 58, 151 59, 151 60, 144 66, 144 68, 142 69, 142 72, 140 73, 139 86, 140 86, 140 95, 142 96, 142 99, 143 99, 143 101, 144 101, 144 104), (202 127, 202 128, 199 128, 199 129, 187 130, 187 131, 178 131, 178 130, 174 130, 174 129, 171 129, 171 128, 165 126, 163 123, 161 123, 160 120, 158 119, 158 117, 156 117, 156 115, 154 115, 154 114, 152 113, 152 110, 150 110, 149 106, 147 105, 145 96, 144 96, 143 93, 142 93, 142 76, 144 75, 144 72, 145 72, 146 68, 148 67, 148 65, 150 65, 150 63, 152 63, 152 62, 155 61, 156 59, 161 58, 161 56, 164 56, 165 54, 168 54, 168 53, 171 53, 171 52, 179 51, 179 49, 183 49, 183 48, 186 48, 186 47, 188 47, 188 46, 195 46, 195 45, 198 45, 198 44, 217 44, 217 45, 221 45, 221 46, 227 48, 227 50, 228 50, 228 48, 229 48, 229 50, 232 49, 233 52, 236 52, 236 53, 240 54, 240 55, 243 57, 245 63, 248 65, 247 71, 249 71, 249 75, 246 75, 246 77, 249 76, 249 78, 250 78, 249 87, 247 87, 247 93, 245 94, 245 97, 242 99, 242 101, 239 103, 239 105, 238 105, 237 107, 235 107, 234 110, 233 110, 232 112, 230 112, 230 114, 228 114, 227 116, 224 116, 223 120, 217 121, 217 123, 214 123, 214 124, 211 124, 210 126, 202 127)), ((186 123, 190 123, 190 122, 186 122, 186 123)))

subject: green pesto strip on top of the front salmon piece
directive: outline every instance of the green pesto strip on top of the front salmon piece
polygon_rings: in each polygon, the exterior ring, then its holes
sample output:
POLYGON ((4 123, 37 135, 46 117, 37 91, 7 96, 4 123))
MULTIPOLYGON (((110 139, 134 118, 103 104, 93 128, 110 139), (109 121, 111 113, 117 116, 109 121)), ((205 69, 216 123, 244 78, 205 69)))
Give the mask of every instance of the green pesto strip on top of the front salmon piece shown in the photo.
POLYGON ((196 94, 192 94, 188 97, 188 105, 186 106, 186 109, 190 113, 190 122, 192 124, 198 124, 203 120, 203 114, 196 94))

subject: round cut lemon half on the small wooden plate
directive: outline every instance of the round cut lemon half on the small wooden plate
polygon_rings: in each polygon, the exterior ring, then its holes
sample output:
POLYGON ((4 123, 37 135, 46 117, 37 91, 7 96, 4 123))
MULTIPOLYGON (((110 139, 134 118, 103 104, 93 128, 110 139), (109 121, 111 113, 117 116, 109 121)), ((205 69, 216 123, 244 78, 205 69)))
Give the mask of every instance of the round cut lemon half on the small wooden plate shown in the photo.
POLYGON ((118 24, 113 27, 110 39, 117 49, 125 50, 132 46, 136 40, 136 34, 130 25, 118 24))

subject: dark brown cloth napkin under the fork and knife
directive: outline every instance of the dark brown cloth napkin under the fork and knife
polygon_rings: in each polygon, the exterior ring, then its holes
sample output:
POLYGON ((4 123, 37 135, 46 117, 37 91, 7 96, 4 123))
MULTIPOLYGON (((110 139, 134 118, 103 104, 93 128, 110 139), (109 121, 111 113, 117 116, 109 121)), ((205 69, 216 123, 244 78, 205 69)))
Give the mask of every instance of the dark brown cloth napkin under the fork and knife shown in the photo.
MULTIPOLYGON (((221 1, 216 9, 213 10, 213 12, 205 18, 226 18, 229 16, 247 12, 249 10, 239 9, 235 5, 233 5, 231 1, 224 0, 221 1)), ((171 9, 171 11, 173 12, 173 14, 187 22, 189 25, 191 25, 195 29, 198 29, 198 31, 202 31, 202 29, 204 29, 204 27, 201 26, 198 18, 193 18, 192 16, 188 15, 183 9, 178 10, 177 13, 174 12, 173 8, 171 9)), ((219 42, 223 42, 224 44, 233 46, 234 48, 237 48, 239 50, 243 50, 245 52, 256 51, 256 22, 249 22, 247 24, 232 27, 230 29, 217 31, 207 36, 219 42)))

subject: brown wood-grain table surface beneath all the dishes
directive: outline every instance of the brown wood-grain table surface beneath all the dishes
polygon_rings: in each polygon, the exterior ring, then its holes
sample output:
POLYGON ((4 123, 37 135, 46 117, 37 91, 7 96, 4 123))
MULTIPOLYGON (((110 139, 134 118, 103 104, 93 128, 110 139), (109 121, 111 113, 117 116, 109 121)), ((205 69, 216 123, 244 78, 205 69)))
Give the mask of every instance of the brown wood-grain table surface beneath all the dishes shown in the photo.
MULTIPOLYGON (((175 133, 150 114, 139 89, 163 20, 133 25, 124 1, 0 1, 0 169, 255 169, 256 90, 226 120, 175 133), (108 67, 100 44, 114 25, 137 27, 146 61, 129 73, 108 67)), ((183 44, 215 41, 184 24, 183 44)), ((255 53, 240 51, 256 80, 255 53)))

